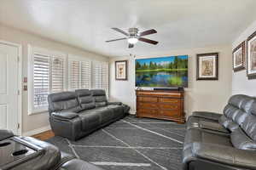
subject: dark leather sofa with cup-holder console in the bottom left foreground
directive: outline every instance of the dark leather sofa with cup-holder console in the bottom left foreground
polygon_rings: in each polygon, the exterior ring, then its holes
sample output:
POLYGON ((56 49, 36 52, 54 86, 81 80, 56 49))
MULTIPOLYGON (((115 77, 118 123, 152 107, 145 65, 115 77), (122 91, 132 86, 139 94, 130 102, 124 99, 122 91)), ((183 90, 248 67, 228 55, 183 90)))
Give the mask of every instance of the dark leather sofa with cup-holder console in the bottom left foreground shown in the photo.
POLYGON ((0 130, 1 170, 102 170, 61 152, 54 145, 0 130))

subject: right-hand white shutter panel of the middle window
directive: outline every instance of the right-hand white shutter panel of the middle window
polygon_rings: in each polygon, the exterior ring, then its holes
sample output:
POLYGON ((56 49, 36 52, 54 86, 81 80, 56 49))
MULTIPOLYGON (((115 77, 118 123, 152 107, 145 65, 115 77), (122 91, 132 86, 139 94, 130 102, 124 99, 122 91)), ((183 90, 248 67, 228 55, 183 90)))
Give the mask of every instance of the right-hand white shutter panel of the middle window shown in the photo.
POLYGON ((81 88, 90 88, 90 74, 90 61, 81 61, 81 88))

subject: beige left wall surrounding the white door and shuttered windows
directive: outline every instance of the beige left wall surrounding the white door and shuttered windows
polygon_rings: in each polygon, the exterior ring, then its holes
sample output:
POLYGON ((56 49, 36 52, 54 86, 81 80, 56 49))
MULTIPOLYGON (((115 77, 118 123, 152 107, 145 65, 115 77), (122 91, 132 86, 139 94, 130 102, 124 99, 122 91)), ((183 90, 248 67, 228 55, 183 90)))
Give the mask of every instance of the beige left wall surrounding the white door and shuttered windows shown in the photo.
MULTIPOLYGON (((38 37, 24 31, 0 25, 0 40, 15 42, 22 45, 22 77, 27 77, 28 67, 28 44, 39 48, 61 51, 66 54, 84 56, 88 59, 108 61, 108 57, 93 54, 79 48, 55 42, 43 37, 38 37)), ((29 87, 28 87, 29 88, 29 87)), ((41 113, 28 116, 28 96, 27 91, 22 92, 22 134, 38 133, 38 130, 45 130, 49 127, 48 113, 41 113)))

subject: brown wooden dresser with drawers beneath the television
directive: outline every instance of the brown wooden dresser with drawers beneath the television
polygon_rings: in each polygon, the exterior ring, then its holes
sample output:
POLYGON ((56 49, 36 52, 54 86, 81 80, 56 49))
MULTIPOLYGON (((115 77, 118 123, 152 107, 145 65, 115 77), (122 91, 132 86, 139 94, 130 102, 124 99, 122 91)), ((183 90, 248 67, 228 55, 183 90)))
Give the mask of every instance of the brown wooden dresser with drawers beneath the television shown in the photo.
POLYGON ((183 90, 136 90, 136 116, 184 123, 183 94, 183 90))

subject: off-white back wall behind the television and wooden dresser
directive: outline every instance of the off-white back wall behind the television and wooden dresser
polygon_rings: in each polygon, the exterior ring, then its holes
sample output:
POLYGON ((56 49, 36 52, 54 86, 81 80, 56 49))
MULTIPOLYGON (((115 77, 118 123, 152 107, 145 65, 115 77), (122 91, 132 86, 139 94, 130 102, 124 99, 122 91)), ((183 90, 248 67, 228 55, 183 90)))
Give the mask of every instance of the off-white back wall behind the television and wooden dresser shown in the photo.
MULTIPOLYGON (((232 57, 230 45, 145 54, 146 57, 137 57, 137 59, 183 54, 189 55, 189 88, 185 89, 186 116, 189 116, 192 111, 222 112, 231 94, 232 57), (218 81, 196 81, 196 54, 213 52, 219 53, 218 81)), ((135 61, 130 56, 110 58, 110 99, 130 105, 131 112, 135 113, 135 61), (122 59, 129 60, 128 81, 115 81, 114 61, 122 59)))

